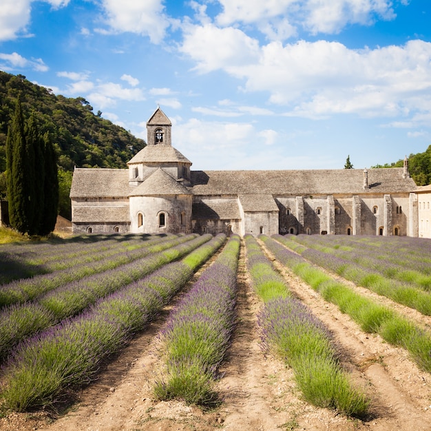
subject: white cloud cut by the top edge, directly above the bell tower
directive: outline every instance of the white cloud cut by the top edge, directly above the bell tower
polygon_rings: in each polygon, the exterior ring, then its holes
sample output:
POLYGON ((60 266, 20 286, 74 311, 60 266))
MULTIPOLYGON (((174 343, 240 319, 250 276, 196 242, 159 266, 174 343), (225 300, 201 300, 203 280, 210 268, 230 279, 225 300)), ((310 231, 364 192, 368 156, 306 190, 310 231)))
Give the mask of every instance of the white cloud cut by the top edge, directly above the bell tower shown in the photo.
POLYGON ((143 34, 151 42, 160 43, 169 26, 161 0, 102 0, 102 6, 107 24, 114 32, 143 34))

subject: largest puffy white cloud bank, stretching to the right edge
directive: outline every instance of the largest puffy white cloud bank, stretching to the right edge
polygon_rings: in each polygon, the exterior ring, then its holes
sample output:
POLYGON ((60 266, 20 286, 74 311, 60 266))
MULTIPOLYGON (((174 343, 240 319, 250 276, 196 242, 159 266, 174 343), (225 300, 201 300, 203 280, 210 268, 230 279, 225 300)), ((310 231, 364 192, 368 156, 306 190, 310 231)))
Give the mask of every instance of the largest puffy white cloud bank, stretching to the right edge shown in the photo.
POLYGON ((200 72, 224 70, 244 81, 245 92, 268 92, 269 102, 289 107, 291 116, 431 111, 431 43, 425 41, 363 50, 323 40, 259 46, 238 29, 203 25, 187 34, 182 52, 200 72))

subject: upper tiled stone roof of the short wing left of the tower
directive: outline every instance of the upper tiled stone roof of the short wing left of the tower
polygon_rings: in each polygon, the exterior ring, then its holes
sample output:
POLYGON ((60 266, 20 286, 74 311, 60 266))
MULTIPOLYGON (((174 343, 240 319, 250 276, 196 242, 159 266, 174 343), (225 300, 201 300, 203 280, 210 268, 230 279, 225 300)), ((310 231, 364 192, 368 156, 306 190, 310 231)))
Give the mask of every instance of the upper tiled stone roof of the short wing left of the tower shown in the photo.
POLYGON ((129 169, 76 168, 71 198, 125 198, 129 194, 129 169))

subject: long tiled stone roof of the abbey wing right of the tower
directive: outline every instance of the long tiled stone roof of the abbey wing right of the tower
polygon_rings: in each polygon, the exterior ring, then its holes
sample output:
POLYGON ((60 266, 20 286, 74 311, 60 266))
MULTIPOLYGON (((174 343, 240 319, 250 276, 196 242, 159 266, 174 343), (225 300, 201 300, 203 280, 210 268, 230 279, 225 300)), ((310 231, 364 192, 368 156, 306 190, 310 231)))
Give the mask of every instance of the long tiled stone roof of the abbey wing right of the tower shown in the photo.
POLYGON ((403 168, 368 169, 369 189, 364 189, 362 169, 293 171, 191 171, 194 195, 406 193, 417 186, 402 178, 403 168))

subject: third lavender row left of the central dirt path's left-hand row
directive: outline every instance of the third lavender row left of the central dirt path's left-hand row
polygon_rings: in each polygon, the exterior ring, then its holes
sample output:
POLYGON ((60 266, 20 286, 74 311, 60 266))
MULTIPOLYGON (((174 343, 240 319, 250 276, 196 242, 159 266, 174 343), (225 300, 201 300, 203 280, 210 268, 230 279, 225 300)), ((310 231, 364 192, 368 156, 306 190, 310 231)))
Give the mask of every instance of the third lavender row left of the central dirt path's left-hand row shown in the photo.
MULTIPOLYGON (((47 274, 34 275, 31 278, 14 280, 8 284, 3 284, 3 286, 0 286, 0 308, 36 299, 44 293, 52 291, 66 283, 81 280, 83 277, 101 273, 108 269, 114 269, 117 266, 133 262, 151 253, 169 249, 169 247, 187 241, 190 238, 193 237, 156 237, 147 242, 138 242, 133 244, 133 246, 110 244, 112 246, 109 246, 109 249, 102 252, 98 252, 97 249, 92 247, 91 255, 84 255, 82 261, 79 259, 72 260, 72 262, 69 262, 57 271, 49 271, 47 274)), ((104 242, 101 241, 98 247, 105 249, 104 242)), ((54 250, 59 255, 59 260, 68 262, 67 255, 62 256, 59 251, 54 250)))

